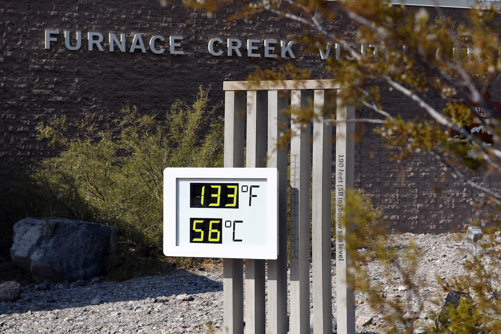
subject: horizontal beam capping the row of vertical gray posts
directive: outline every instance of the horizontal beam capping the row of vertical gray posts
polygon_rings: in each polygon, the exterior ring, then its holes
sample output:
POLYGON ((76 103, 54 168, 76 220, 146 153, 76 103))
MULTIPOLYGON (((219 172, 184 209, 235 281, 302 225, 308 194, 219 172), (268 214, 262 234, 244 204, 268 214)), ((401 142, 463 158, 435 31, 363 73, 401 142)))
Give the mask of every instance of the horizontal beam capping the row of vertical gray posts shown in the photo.
POLYGON ((223 91, 271 91, 289 89, 340 89, 337 81, 328 80, 282 80, 282 81, 225 81, 223 91))

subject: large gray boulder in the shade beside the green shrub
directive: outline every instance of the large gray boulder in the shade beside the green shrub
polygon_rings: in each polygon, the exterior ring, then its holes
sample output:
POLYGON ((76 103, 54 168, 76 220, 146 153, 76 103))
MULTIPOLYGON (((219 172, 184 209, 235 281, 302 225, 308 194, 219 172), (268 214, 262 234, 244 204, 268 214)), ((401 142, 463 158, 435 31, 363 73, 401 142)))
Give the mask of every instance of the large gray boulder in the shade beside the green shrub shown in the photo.
POLYGON ((14 225, 11 257, 37 281, 70 282, 98 276, 115 252, 118 229, 62 218, 25 218, 14 225))

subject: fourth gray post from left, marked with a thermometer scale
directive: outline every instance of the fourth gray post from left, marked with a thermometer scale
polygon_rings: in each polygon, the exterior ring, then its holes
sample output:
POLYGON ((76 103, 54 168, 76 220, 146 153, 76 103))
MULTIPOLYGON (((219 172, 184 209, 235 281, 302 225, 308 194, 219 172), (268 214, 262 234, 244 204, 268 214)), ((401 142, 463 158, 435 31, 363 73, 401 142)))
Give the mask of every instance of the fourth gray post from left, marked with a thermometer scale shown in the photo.
MULTIPOLYGON (((292 108, 308 106, 306 91, 293 90, 292 108)), ((310 126, 291 120, 291 334, 310 332, 310 126)))

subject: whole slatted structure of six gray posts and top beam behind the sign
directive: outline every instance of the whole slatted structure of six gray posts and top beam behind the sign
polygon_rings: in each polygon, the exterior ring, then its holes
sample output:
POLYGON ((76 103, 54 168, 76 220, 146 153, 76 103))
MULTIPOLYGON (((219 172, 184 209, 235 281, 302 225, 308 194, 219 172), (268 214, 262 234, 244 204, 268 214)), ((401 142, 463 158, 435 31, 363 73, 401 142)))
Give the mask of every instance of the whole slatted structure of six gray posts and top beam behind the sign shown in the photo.
MULTIPOLYGON (((246 167, 276 167, 279 171, 278 248, 276 260, 268 260, 268 333, 287 333, 287 153, 277 149, 287 119, 284 94, 291 92, 293 109, 308 106, 314 92, 314 111, 322 115, 313 124, 313 329, 315 334, 332 332, 331 299, 331 160, 332 113, 336 90, 333 80, 224 82, 224 167, 243 167, 244 114, 247 119, 246 167), (330 90, 330 91, 329 91, 330 90), (246 92, 246 95, 244 94, 246 92), (329 93, 329 94, 328 94, 329 93), (246 97, 246 102, 245 102, 246 97), (246 110, 246 113, 245 113, 246 110), (283 129, 282 129, 283 128, 283 129), (266 143, 268 142, 268 147, 266 143)), ((355 118, 353 106, 337 99, 336 119, 355 118)), ((291 233, 290 233, 290 330, 310 332, 310 126, 291 120, 291 233)), ((346 252, 346 189, 354 185, 353 122, 336 127, 336 241, 337 323, 339 334, 355 333, 355 303, 349 284, 349 254, 346 252), (342 161, 340 160, 342 159, 342 161), (341 190, 339 190, 341 189, 341 190), (341 195, 339 195, 341 194, 341 195), (339 223, 339 224, 338 224, 339 223), (338 228, 339 227, 339 228, 338 228), (341 240, 341 241, 339 241, 341 240), (339 257, 341 256, 341 257, 339 257)), ((224 334, 243 333, 242 259, 223 260, 224 334)), ((245 327, 247 334, 265 333, 265 261, 245 260, 245 327)))

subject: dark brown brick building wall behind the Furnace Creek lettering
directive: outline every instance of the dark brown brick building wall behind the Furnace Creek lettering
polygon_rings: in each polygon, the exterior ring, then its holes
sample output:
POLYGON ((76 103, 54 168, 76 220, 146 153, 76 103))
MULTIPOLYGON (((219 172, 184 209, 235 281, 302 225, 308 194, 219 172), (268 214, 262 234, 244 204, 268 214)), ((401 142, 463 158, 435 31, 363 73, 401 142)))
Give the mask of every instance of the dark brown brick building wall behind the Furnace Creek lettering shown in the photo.
MULTIPOLYGON (((175 3, 174 3, 175 4, 175 3)), ((227 13, 211 17, 191 13, 173 5, 161 7, 155 0, 147 1, 81 1, 81 0, 21 0, 0 3, 2 21, 2 51, 0 66, 0 157, 8 159, 42 158, 55 154, 47 144, 36 141, 37 125, 44 120, 61 117, 79 118, 91 112, 100 124, 111 124, 128 101, 144 113, 162 115, 177 99, 189 100, 199 85, 211 85, 213 102, 223 100, 223 81, 245 80, 256 66, 276 68, 290 59, 280 58, 280 42, 275 45, 278 59, 246 56, 247 39, 290 41, 291 34, 300 34, 299 25, 271 16, 259 16, 252 23, 237 22, 229 27, 227 13), (45 31, 58 30, 56 42, 45 49, 45 31), (69 31, 75 45, 75 33, 82 32, 80 50, 65 47, 64 31, 69 31), (88 32, 104 36, 103 52, 88 50, 88 32), (108 33, 119 38, 126 34, 126 52, 115 47, 108 50, 108 33), (135 34, 141 34, 146 53, 130 53, 135 34), (161 35, 165 42, 157 48, 161 55, 148 48, 149 39, 161 35), (183 55, 169 53, 169 36, 183 36, 183 55), (238 38, 242 42, 242 57, 215 57, 209 54, 211 38, 238 38)), ((447 10, 456 20, 464 20, 463 10, 447 10)), ((348 37, 353 25, 342 16, 332 23, 343 28, 348 37)), ((224 50, 225 49, 221 49, 224 50)), ((306 53, 294 45, 295 64, 311 69, 314 77, 325 77, 319 53, 306 53)), ((499 93, 499 86, 496 87, 499 93)), ((496 96, 495 92, 491 92, 496 96)), ((391 112, 405 118, 421 113, 408 100, 395 92, 383 94, 383 104, 391 112)), ((431 99, 439 106, 439 98, 431 99)), ((222 111, 222 110, 221 110, 222 111)), ((358 115, 371 117, 367 110, 358 115)), ((374 116, 374 115, 372 115, 374 116)), ((390 151, 370 126, 357 126, 362 139, 356 144, 355 184, 373 196, 374 204, 385 209, 392 228, 405 232, 442 232, 467 224, 471 218, 468 202, 476 196, 469 187, 455 182, 432 159, 419 156, 405 167, 410 173, 402 179, 389 161, 390 151), (413 173, 413 174, 412 174, 413 173), (437 195, 434 187, 442 188, 437 195)), ((481 176, 480 176, 481 177, 481 176)), ((485 179, 491 186, 499 185, 493 176, 485 179)), ((498 187, 501 188, 501 187, 498 187)))

